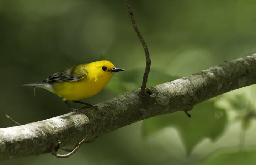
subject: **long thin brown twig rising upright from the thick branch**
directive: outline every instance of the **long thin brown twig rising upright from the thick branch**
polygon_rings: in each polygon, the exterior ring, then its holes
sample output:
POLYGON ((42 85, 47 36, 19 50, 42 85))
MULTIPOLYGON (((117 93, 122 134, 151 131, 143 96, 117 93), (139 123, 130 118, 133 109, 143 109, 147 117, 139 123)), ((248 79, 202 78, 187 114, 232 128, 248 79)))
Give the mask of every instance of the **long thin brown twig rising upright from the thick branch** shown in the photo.
POLYGON ((150 71, 151 60, 149 58, 148 47, 147 47, 147 45, 146 45, 142 35, 140 34, 139 28, 137 27, 137 24, 136 24, 136 22, 134 20, 133 12, 130 9, 130 4, 129 4, 128 0, 124 0, 124 2, 126 3, 127 12, 128 12, 128 14, 130 16, 130 20, 132 21, 133 28, 134 28, 136 34, 138 35, 138 37, 140 39, 140 42, 143 45, 143 48, 144 48, 144 51, 145 51, 145 55, 146 55, 146 69, 145 69, 145 73, 143 75, 142 85, 140 87, 140 95, 144 95, 145 92, 146 92, 146 83, 148 81, 148 75, 149 75, 149 71, 150 71))

